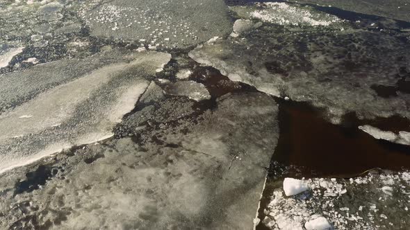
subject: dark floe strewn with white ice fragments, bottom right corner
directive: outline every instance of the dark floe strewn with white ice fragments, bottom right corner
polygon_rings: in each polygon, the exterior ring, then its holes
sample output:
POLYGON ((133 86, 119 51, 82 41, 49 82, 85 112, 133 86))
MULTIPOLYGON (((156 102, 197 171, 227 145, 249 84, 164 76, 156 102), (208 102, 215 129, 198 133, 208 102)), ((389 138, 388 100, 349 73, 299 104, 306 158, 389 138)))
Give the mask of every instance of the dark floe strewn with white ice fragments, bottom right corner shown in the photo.
POLYGON ((406 206, 410 194, 409 172, 368 174, 351 180, 313 178, 305 182, 311 188, 311 195, 287 197, 279 186, 275 186, 263 210, 262 223, 266 227, 286 229, 290 224, 300 229, 300 224, 304 224, 306 229, 320 229, 315 224, 323 223, 325 229, 386 229, 387 217, 395 229, 406 229, 409 224, 406 206), (394 199, 386 196, 393 191, 397 191, 394 199), (354 197, 353 202, 351 197, 354 197))

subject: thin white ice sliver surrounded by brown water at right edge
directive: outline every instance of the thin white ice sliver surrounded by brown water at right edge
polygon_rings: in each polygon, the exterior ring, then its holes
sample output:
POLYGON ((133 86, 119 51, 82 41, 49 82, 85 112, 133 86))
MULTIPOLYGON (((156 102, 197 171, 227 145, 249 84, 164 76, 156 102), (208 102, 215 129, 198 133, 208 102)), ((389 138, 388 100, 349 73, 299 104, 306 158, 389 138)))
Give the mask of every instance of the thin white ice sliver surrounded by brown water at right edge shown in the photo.
POLYGON ((372 127, 371 125, 362 125, 359 126, 359 129, 370 134, 370 136, 373 136, 375 139, 383 139, 393 143, 410 145, 410 132, 400 131, 399 134, 395 134, 391 131, 379 130, 377 127, 372 127))

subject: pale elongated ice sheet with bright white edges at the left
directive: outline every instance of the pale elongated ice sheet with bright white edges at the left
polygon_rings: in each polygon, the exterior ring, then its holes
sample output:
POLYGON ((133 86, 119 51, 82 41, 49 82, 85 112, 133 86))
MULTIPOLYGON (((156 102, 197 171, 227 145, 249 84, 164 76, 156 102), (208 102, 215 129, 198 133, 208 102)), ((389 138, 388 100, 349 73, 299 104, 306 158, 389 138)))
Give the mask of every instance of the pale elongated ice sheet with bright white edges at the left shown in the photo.
MULTIPOLYGON (((129 55, 130 62, 120 59, 85 73, 1 114, 0 129, 8 132, 0 135, 0 171, 112 136, 114 125, 148 87, 145 77, 154 76, 170 60, 165 53, 129 55)), ((55 67, 42 65, 44 73, 55 67)), ((67 67, 57 68, 64 73, 67 67)), ((44 73, 31 77, 44 78, 44 73)))

